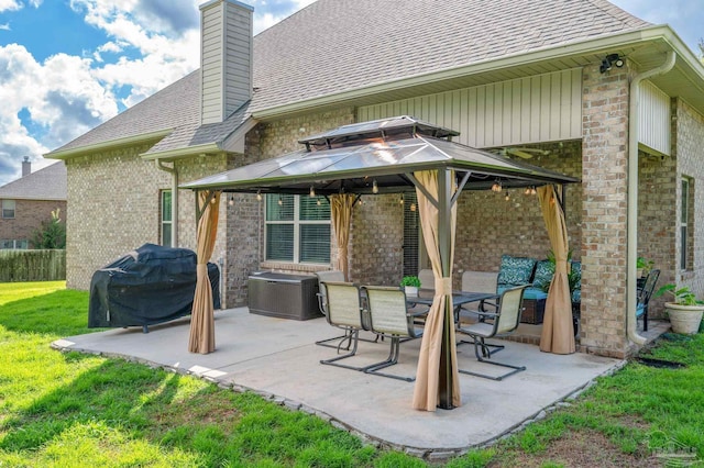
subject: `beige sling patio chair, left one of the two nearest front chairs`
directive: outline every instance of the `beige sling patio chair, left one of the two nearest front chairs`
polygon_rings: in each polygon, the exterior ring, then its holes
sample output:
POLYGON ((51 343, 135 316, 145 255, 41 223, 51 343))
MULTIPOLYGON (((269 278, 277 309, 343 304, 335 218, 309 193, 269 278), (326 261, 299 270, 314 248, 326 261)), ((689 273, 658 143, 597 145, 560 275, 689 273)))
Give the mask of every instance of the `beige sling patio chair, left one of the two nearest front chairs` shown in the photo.
POLYGON ((340 349, 345 349, 349 353, 330 359, 322 359, 320 364, 364 370, 364 367, 354 367, 339 363, 356 354, 360 331, 365 330, 362 317, 360 287, 351 282, 336 281, 323 281, 323 285, 327 289, 326 317, 328 319, 328 323, 345 332, 344 335, 333 338, 340 339, 339 344, 334 347, 338 349, 338 353, 340 353, 340 349))

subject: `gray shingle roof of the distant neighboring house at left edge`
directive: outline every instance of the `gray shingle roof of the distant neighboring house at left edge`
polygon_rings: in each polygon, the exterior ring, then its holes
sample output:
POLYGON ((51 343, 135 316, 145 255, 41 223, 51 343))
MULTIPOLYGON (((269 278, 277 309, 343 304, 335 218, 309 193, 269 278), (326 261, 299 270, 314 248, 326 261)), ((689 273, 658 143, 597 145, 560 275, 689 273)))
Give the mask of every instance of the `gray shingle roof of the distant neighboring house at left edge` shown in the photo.
POLYGON ((66 200, 66 166, 58 161, 0 187, 0 199, 66 200))

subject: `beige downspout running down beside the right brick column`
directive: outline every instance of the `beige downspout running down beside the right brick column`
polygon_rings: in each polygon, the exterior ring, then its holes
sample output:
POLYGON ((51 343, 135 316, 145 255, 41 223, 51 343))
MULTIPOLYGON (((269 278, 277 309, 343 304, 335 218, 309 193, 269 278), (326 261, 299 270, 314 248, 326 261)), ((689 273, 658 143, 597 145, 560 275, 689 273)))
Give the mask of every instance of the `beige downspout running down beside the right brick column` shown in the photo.
POLYGON ((628 110, 628 214, 627 231, 628 252, 626 257, 627 265, 627 296, 626 311, 627 323, 626 331, 628 339, 637 345, 644 345, 646 338, 640 336, 636 331, 636 305, 638 297, 636 294, 636 261, 638 259, 638 87, 640 81, 652 78, 658 75, 667 74, 674 67, 674 51, 668 52, 666 62, 657 68, 652 68, 642 74, 638 74, 630 80, 630 103, 628 110))

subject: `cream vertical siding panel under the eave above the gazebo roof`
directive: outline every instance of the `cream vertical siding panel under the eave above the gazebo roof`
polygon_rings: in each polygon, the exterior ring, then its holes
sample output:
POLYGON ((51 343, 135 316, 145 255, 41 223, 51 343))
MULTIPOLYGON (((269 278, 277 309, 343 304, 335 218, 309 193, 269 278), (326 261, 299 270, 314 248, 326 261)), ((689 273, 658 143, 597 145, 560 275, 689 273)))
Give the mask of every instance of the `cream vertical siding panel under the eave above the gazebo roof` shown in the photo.
POLYGON ((362 107, 359 121, 413 115, 476 148, 582 136, 580 68, 362 107))

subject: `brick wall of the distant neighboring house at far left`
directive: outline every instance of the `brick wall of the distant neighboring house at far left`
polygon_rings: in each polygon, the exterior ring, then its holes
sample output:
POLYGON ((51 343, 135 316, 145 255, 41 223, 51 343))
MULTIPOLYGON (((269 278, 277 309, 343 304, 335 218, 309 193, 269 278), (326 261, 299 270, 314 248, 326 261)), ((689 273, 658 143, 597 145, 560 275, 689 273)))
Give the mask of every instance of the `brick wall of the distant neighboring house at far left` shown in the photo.
POLYGON ((0 218, 0 239, 30 241, 43 222, 52 221, 56 209, 61 209, 59 218, 65 221, 66 201, 14 200, 14 219, 0 218))

